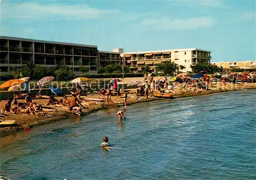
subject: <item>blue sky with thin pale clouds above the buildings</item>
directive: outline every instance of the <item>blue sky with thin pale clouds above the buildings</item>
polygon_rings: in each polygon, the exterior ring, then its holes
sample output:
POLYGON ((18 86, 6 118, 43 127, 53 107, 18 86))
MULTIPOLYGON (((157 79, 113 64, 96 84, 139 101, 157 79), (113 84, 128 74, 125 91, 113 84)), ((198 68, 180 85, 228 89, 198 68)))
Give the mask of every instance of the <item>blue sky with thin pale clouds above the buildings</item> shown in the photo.
POLYGON ((256 60, 254 0, 2 0, 1 36, 124 52, 200 48, 211 62, 256 60))

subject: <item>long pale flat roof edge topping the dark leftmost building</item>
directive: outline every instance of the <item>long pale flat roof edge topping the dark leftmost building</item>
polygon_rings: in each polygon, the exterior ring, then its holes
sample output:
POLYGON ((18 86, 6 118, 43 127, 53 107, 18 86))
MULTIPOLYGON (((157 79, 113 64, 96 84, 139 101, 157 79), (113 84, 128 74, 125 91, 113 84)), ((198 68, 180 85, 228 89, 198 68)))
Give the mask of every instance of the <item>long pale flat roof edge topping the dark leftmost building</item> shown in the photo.
POLYGON ((82 47, 96 47, 96 48, 98 47, 96 45, 76 44, 76 43, 56 42, 56 41, 44 41, 44 40, 37 40, 37 39, 17 38, 17 37, 8 37, 8 36, 0 36, 0 39, 29 41, 29 42, 41 42, 41 43, 60 44, 60 45, 72 45, 72 46, 82 46, 82 47))

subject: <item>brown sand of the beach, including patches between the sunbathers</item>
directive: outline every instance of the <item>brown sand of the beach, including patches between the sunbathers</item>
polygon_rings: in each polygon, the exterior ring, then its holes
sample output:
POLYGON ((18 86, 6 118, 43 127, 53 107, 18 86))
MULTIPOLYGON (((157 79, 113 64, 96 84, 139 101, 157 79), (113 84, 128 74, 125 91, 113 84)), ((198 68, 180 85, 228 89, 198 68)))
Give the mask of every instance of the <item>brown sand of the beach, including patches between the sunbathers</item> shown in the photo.
MULTIPOLYGON (((227 91, 233 91, 233 90, 245 90, 245 89, 256 89, 256 83, 254 84, 247 84, 246 86, 244 85, 231 85, 228 84, 227 86, 214 86, 211 87, 210 90, 208 91, 203 91, 195 94, 194 92, 187 91, 185 89, 177 89, 173 92, 173 96, 175 98, 178 97, 191 97, 191 96, 198 96, 198 95, 207 95, 207 94, 212 94, 212 93, 219 93, 219 92, 227 92, 227 91)), ((130 89, 131 91, 135 91, 136 89, 130 89)), ((83 96, 84 98, 104 98, 105 96, 99 96, 97 94, 89 94, 87 96, 83 96)), ((60 99, 61 97, 56 97, 56 99, 60 99)), ((129 94, 128 99, 127 99, 127 106, 137 104, 139 102, 147 102, 147 101, 153 101, 153 100, 159 100, 161 98, 156 98, 149 96, 148 99, 144 99, 144 97, 141 97, 141 100, 137 100, 136 94, 129 94)), ((44 105, 47 103, 48 99, 33 99, 34 102, 37 104, 44 105)), ((20 102, 24 102, 24 100, 18 100, 20 102)), ((0 109, 3 109, 4 104, 6 101, 1 101, 0 102, 0 109)), ((116 108, 116 107, 123 107, 123 97, 119 96, 112 96, 112 103, 108 104, 105 101, 104 102, 98 102, 98 101, 85 101, 82 104, 86 109, 82 109, 82 116, 86 116, 90 113, 99 111, 99 110, 104 110, 104 109, 111 109, 111 108, 116 108)), ((9 127, 0 127, 0 138, 1 137, 6 137, 8 135, 12 135, 15 133, 18 133, 20 131, 25 131, 26 128, 32 128, 38 125, 43 125, 43 124, 49 124, 53 123, 55 121, 60 121, 64 120, 67 118, 72 117, 71 111, 69 109, 63 108, 63 107, 55 107, 55 106, 45 106, 45 107, 51 107, 51 108, 56 108, 57 112, 48 112, 47 115, 44 116, 36 116, 36 115, 28 115, 28 114, 12 114, 12 113, 3 113, 0 115, 1 120, 16 120, 17 125, 16 126, 9 126, 9 127)))

